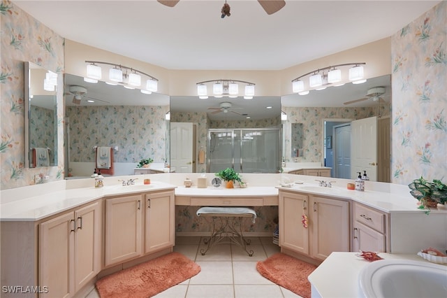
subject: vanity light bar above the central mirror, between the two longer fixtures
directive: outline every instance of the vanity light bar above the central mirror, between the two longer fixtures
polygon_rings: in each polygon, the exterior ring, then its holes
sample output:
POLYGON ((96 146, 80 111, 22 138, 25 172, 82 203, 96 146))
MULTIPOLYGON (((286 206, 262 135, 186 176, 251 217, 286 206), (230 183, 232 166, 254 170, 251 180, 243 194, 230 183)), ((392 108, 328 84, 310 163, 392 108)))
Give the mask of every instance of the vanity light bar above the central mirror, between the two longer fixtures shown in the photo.
POLYGON ((197 95, 200 99, 207 99, 207 83, 212 84, 212 96, 220 98, 228 96, 230 98, 235 98, 239 96, 239 85, 238 83, 246 84, 244 87, 244 99, 253 99, 254 97, 254 83, 246 82, 244 80, 204 80, 203 82, 196 83, 197 85, 197 95))

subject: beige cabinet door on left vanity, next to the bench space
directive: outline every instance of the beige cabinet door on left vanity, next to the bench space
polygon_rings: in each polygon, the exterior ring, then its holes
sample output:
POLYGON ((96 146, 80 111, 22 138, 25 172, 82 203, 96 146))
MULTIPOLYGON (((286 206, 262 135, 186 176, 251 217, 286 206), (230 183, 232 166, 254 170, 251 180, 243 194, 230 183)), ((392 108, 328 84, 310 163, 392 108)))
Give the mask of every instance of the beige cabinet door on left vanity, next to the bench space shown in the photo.
POLYGON ((174 245, 174 192, 146 194, 145 253, 174 245))

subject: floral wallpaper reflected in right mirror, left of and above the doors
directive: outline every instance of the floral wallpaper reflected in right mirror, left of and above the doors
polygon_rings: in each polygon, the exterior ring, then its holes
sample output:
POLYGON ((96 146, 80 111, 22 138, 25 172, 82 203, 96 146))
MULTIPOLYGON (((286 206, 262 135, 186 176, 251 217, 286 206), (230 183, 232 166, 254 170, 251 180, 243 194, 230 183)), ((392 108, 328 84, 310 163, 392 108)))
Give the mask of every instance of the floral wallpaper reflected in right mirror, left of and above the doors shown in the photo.
MULTIPOLYGON (((378 108, 296 108, 281 107, 287 114, 287 120, 284 123, 284 139, 286 146, 286 162, 294 162, 291 159, 291 129, 292 123, 302 123, 304 137, 302 139, 302 152, 300 157, 294 157, 296 162, 321 162, 322 141, 323 141, 323 119, 326 118, 345 118, 345 119, 363 119, 376 115, 390 115, 390 107, 381 106, 378 108)), ((296 155, 296 153, 295 153, 296 155)), ((294 156, 295 156, 294 155, 294 156)))

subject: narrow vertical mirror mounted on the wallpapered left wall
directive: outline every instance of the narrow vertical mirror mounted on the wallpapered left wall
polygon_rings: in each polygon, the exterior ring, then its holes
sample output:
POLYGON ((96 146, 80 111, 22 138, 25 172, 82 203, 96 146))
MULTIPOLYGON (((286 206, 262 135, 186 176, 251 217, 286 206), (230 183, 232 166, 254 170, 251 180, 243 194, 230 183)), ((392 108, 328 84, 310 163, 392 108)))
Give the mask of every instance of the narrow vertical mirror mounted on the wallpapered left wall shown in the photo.
POLYGON ((25 62, 25 166, 57 166, 57 73, 25 62))

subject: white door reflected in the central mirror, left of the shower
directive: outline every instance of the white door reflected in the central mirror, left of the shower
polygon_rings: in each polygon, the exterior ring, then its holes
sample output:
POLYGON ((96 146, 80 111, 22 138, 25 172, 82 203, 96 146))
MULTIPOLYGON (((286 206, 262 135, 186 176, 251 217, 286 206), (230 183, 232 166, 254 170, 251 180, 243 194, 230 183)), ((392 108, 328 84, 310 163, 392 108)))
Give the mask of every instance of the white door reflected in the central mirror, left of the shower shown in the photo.
POLYGON ((176 173, 193 171, 193 124, 170 123, 170 166, 176 173))

